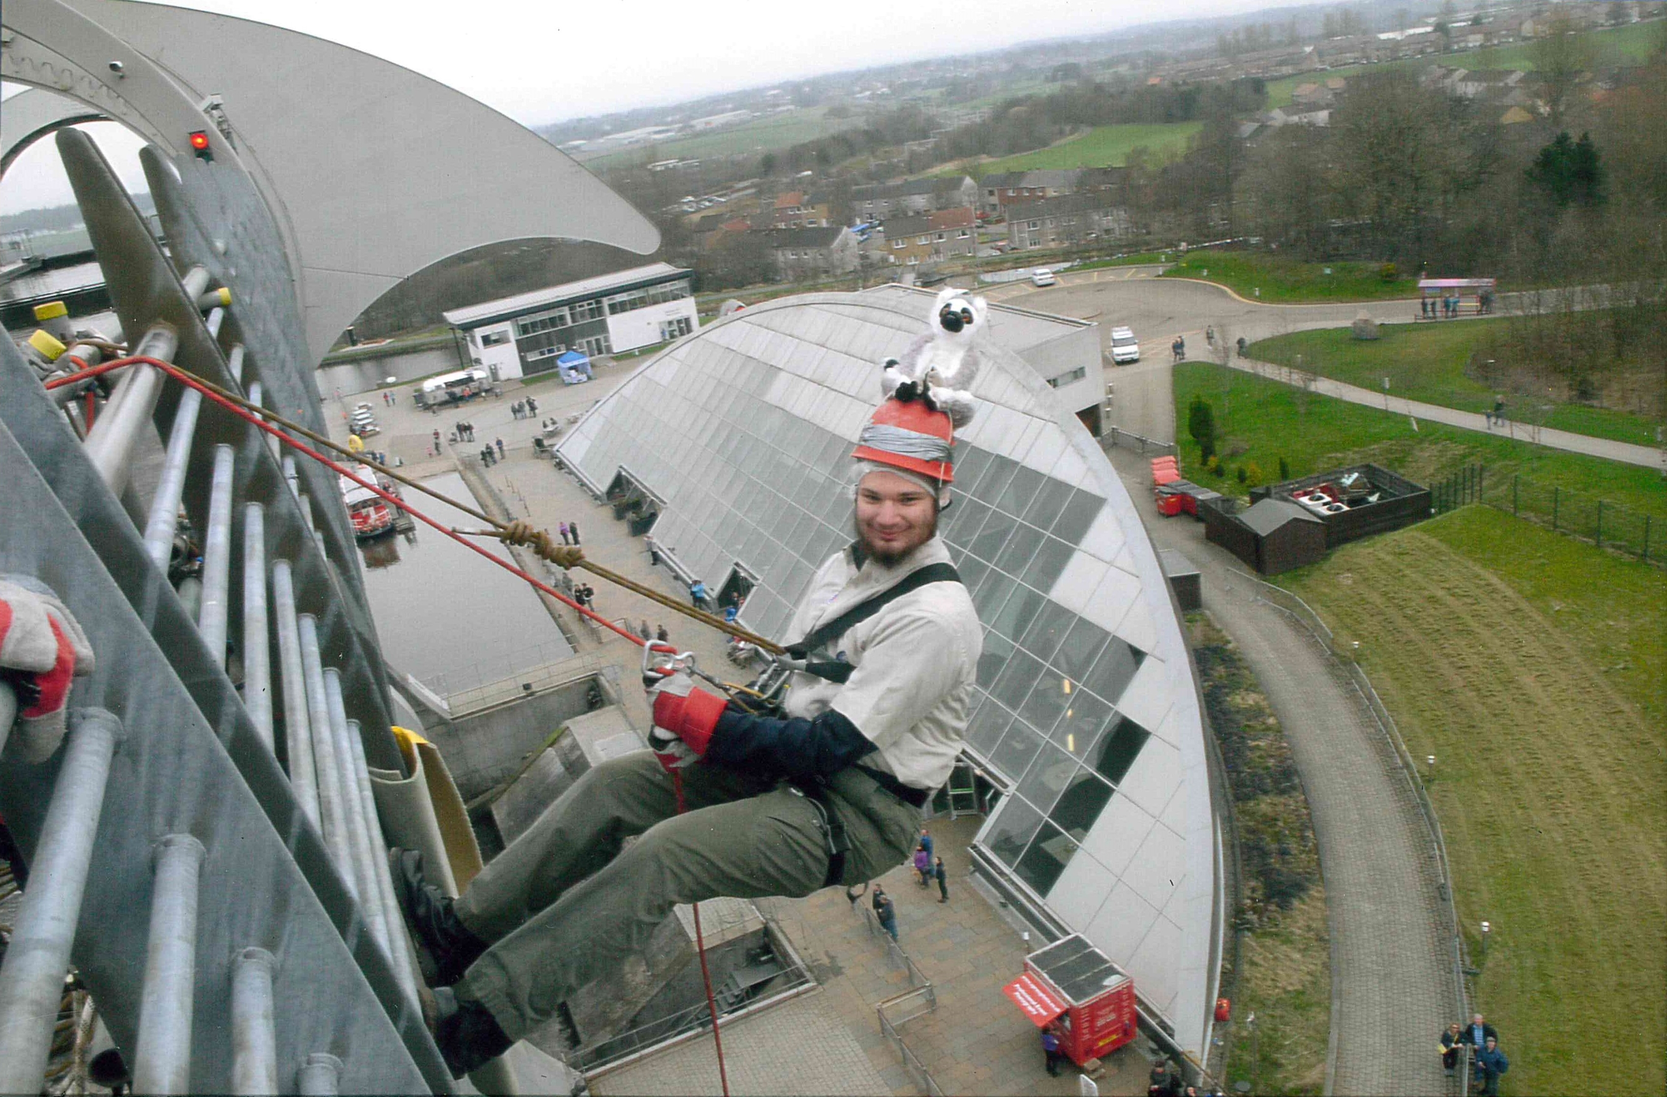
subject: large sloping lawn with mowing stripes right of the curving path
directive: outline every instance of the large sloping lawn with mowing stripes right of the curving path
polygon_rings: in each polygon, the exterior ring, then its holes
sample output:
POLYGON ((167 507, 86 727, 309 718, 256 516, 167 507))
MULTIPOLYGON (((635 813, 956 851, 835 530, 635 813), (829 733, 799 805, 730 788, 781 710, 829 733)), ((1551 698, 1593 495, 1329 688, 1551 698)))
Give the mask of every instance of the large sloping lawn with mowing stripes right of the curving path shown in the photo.
POLYGON ((1504 1092, 1662 1092, 1667 577, 1467 507, 1284 582, 1359 640, 1407 749, 1437 757, 1504 1092))

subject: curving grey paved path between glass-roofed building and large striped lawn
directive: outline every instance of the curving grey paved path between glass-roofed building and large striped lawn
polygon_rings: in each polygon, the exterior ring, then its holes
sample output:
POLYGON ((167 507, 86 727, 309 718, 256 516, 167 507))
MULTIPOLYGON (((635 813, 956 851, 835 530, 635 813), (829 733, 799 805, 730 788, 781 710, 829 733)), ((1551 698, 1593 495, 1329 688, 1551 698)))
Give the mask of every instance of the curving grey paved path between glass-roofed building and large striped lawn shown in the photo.
MULTIPOLYGON (((1110 457, 1130 493, 1147 498, 1147 462, 1110 457)), ((1427 1049, 1454 1020, 1457 987, 1430 835, 1394 747, 1319 644, 1255 599, 1202 523, 1152 513, 1147 530, 1199 567, 1204 607, 1244 652, 1302 774, 1332 935, 1327 1092, 1445 1094, 1427 1049)))

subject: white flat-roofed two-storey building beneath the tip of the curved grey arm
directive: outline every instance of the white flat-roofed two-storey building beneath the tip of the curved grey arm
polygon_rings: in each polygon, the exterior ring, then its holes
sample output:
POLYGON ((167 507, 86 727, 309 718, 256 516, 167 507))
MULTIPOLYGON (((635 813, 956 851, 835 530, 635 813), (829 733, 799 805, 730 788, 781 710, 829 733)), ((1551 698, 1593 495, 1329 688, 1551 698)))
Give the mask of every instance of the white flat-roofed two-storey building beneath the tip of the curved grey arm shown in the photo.
POLYGON ((468 338, 475 365, 495 380, 530 377, 553 370, 568 350, 623 353, 700 330, 688 273, 648 263, 443 315, 468 338))

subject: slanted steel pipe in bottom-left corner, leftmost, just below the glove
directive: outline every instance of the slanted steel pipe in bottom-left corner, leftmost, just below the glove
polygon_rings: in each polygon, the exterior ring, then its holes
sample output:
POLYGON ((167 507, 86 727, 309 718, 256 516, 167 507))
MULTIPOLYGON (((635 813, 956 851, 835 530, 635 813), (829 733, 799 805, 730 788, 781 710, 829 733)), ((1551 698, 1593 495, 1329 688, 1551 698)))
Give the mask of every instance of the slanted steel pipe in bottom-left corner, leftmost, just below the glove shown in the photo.
POLYGON ((28 889, 0 965, 0 1094, 33 1094, 70 967, 93 837, 122 722, 103 709, 72 714, 68 747, 30 864, 28 889))

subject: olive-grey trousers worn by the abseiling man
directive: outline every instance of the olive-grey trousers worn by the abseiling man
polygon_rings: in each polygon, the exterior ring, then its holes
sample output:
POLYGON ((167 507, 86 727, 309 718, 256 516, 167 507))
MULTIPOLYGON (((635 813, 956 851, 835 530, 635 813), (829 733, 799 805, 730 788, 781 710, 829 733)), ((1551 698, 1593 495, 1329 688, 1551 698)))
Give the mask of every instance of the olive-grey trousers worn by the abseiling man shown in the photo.
MULTIPOLYGON (((492 942, 458 994, 492 1010, 510 1039, 642 952, 677 904, 800 897, 827 882, 822 817, 802 792, 718 765, 682 772, 678 815, 653 754, 592 767, 457 900, 463 925, 492 942), (620 852, 630 835, 642 837, 620 852)), ((832 784, 852 844, 845 882, 900 864, 920 812, 850 770, 832 784)))

